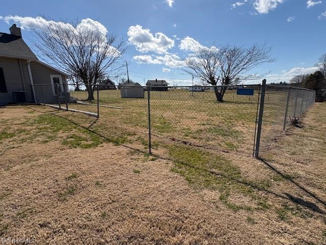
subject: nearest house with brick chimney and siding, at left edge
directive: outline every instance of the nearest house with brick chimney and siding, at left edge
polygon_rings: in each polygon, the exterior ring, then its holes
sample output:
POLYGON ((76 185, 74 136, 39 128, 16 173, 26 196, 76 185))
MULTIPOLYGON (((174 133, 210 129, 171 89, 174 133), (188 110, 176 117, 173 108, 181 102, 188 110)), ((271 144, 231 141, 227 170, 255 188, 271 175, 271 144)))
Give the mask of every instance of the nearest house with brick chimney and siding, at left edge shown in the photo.
POLYGON ((0 105, 43 103, 43 98, 57 103, 58 90, 61 100, 70 100, 68 86, 63 85, 69 75, 39 61, 16 24, 9 30, 10 34, 0 33, 0 105))

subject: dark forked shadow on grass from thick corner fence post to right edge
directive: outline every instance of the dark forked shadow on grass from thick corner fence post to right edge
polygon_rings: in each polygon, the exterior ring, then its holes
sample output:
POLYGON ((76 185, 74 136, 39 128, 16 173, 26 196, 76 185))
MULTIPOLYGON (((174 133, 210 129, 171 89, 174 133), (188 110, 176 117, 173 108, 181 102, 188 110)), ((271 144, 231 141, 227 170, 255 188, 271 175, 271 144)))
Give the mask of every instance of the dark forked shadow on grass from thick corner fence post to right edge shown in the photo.
MULTIPOLYGON (((279 169, 277 169, 276 167, 274 167, 273 165, 271 165, 270 163, 268 163, 266 160, 264 160, 263 158, 258 158, 258 160, 262 161, 266 166, 268 166, 271 170, 275 171, 275 173, 277 173, 278 175, 282 176, 284 179, 286 179, 287 181, 291 182, 292 184, 294 184, 295 186, 297 186, 298 188, 300 188, 301 190, 303 190, 305 193, 307 193, 309 195, 309 197, 313 198, 314 200, 316 200, 318 203, 322 204, 324 208, 326 208, 326 202, 323 201, 322 199, 320 199, 316 194, 314 194, 313 192, 311 192, 310 190, 306 189, 305 187, 303 187, 300 183, 297 183, 296 181, 294 181, 292 178, 289 178, 289 176, 287 174, 282 173, 279 169)), ((293 197, 291 194, 289 193, 285 193, 286 197, 291 200, 293 203, 302 205, 304 207, 309 208, 312 211, 318 212, 318 213, 322 213, 324 214, 325 212, 322 211, 320 208, 318 208, 315 204, 305 201, 301 198, 296 198, 293 197)))

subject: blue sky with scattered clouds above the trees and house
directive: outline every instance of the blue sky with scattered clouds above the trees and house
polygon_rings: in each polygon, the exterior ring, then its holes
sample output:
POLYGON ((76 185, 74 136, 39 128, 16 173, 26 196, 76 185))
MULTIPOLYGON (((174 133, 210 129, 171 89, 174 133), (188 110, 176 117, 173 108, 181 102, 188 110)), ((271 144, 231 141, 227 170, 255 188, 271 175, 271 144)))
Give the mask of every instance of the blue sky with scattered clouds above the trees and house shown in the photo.
POLYGON ((0 32, 16 22, 30 45, 26 17, 98 21, 128 41, 129 76, 142 84, 155 78, 189 84, 182 59, 199 45, 267 43, 277 61, 251 72, 269 72, 268 82, 314 71, 326 53, 326 0, 5 1, 0 16, 0 32))

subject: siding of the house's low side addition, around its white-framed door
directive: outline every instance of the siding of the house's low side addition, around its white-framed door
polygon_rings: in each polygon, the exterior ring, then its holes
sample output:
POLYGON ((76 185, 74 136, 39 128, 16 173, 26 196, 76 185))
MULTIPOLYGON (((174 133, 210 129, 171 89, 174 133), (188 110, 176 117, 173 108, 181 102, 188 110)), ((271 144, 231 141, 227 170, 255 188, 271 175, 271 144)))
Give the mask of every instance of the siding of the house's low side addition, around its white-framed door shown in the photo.
MULTIPOLYGON (((50 76, 51 75, 61 76, 63 83, 66 83, 66 76, 60 74, 55 69, 51 69, 35 61, 31 62, 31 70, 32 70, 33 83, 35 85, 34 90, 35 90, 37 102, 43 103, 43 96, 44 96, 45 103, 47 104, 58 103, 58 97, 53 95, 52 92, 52 84, 51 84, 50 76), (41 89, 41 84, 42 84, 42 89, 41 89), (42 90, 43 90, 43 96, 42 96, 42 90)), ((68 91, 68 89, 66 91, 68 91)))

